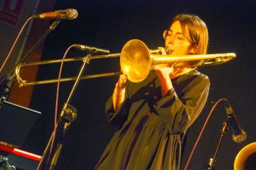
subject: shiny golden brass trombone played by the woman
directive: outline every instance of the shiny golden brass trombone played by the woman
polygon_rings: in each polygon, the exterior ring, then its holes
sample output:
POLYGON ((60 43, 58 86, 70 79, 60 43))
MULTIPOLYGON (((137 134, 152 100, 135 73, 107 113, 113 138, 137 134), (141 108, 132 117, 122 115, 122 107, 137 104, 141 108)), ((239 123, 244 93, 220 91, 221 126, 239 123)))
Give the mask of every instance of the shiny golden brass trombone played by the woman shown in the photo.
MULTIPOLYGON (((91 59, 108 59, 113 57, 120 57, 120 65, 122 71, 117 71, 113 73, 103 73, 98 75, 85 75, 81 79, 87 78, 99 78, 106 76, 116 76, 116 75, 127 75, 127 78, 138 83, 147 78, 148 73, 153 65, 163 64, 163 63, 177 63, 175 67, 202 67, 210 65, 218 65, 221 63, 226 63, 236 57, 234 53, 226 54, 204 54, 204 55, 160 55, 159 50, 151 51, 148 47, 139 39, 132 39, 128 41, 122 48, 121 54, 109 54, 109 55, 96 55, 91 59), (191 65, 191 63, 193 63, 191 65)), ((77 57, 74 59, 65 59, 64 62, 74 62, 83 60, 84 57, 77 57)), ((58 79, 49 79, 42 81, 32 81, 28 82, 20 77, 20 68, 31 65, 43 65, 49 63, 61 63, 62 60, 46 60, 41 62, 32 63, 21 63, 15 68, 15 74, 19 86, 31 86, 38 84, 56 83, 58 79)), ((72 81, 75 77, 71 78, 61 78, 62 81, 72 81)))

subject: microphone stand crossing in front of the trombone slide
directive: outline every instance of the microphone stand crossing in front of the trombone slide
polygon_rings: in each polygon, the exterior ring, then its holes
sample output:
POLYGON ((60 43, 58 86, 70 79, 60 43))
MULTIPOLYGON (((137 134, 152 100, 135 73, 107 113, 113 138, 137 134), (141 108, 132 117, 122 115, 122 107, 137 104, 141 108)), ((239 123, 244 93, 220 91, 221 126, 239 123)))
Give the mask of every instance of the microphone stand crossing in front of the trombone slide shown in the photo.
MULTIPOLYGON (((59 123, 64 121, 64 127, 63 127, 62 136, 60 137, 59 143, 57 144, 56 151, 53 155, 53 159, 51 160, 51 166, 49 169, 55 168, 55 166, 58 162, 59 155, 61 154, 63 141, 64 141, 65 134, 67 132, 67 129, 70 126, 71 122, 77 118, 77 110, 74 107, 72 107, 69 103, 74 95, 75 89, 77 88, 77 86, 79 84, 80 78, 83 75, 83 72, 85 71, 87 64, 90 62, 90 58, 92 57, 92 55, 90 54, 91 50, 88 53, 89 54, 83 59, 83 65, 80 69, 79 75, 77 76, 77 79, 75 80, 75 83, 70 91, 69 97, 67 98, 67 101, 64 103, 62 111, 59 115, 58 124, 56 126, 58 127, 59 123)), ((56 129, 57 129, 57 127, 56 127, 56 129)), ((48 141, 48 145, 46 146, 45 152, 43 153, 43 156, 41 158, 40 163, 38 164, 37 169, 40 169, 40 166, 43 163, 43 160, 45 159, 46 152, 48 152, 48 150, 49 150, 49 146, 51 144, 51 140, 53 140, 53 136, 54 136, 54 132, 48 141)), ((51 156, 51 155, 49 155, 49 156, 51 156)))

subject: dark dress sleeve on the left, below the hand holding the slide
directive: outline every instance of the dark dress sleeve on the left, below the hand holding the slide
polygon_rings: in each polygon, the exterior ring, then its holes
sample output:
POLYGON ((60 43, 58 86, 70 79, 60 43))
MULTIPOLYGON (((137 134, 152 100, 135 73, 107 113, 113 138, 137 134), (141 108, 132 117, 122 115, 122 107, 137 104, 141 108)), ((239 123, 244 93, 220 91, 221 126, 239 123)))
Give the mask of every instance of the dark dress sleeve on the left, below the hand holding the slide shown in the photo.
POLYGON ((113 99, 112 95, 109 97, 108 101, 105 105, 106 111, 106 118, 107 120, 112 123, 114 126, 122 126, 127 119, 129 114, 129 99, 126 97, 124 98, 124 102, 122 102, 121 106, 117 111, 114 111, 113 99))

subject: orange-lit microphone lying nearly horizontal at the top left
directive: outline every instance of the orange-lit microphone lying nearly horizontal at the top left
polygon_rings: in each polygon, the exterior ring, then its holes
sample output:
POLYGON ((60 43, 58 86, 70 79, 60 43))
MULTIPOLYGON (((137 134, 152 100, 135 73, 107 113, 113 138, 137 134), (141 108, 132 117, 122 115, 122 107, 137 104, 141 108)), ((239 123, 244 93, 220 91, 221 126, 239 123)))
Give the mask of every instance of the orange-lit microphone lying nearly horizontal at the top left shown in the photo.
POLYGON ((39 19, 68 19, 73 20, 77 18, 78 12, 75 9, 66 9, 66 10, 55 10, 54 12, 46 12, 42 14, 33 15, 33 18, 39 19))

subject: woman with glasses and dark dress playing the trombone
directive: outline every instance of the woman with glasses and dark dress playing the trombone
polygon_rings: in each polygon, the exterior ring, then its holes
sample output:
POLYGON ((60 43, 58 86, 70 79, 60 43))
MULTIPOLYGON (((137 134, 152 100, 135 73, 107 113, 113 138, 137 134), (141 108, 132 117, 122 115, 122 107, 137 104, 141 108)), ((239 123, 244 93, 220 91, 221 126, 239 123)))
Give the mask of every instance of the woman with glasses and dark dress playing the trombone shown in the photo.
MULTIPOLYGON (((168 55, 207 52, 207 26, 196 15, 176 15, 163 37, 168 55)), ((205 105, 210 81, 189 63, 176 64, 156 65, 140 83, 119 76, 106 102, 108 121, 118 128, 95 169, 179 169, 182 140, 205 105)))

